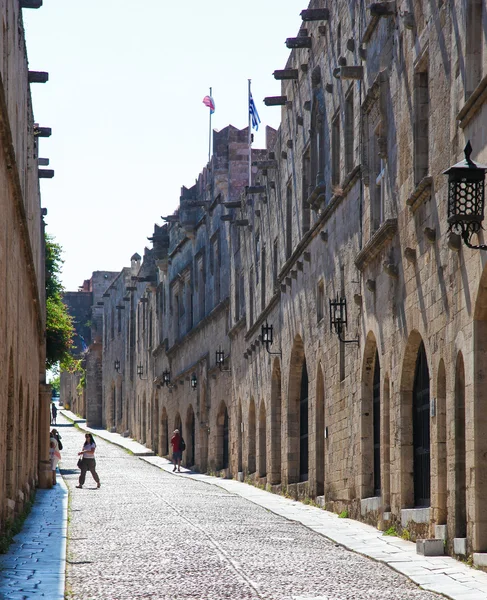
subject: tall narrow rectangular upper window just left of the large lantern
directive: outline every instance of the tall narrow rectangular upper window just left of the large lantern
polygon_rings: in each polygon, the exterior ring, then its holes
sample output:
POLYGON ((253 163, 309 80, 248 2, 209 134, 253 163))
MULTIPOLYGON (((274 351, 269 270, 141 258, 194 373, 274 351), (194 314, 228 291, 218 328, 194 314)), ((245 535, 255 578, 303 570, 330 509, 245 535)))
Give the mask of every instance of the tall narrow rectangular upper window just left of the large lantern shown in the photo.
POLYGON ((414 75, 414 183, 429 170, 429 75, 423 67, 414 75))

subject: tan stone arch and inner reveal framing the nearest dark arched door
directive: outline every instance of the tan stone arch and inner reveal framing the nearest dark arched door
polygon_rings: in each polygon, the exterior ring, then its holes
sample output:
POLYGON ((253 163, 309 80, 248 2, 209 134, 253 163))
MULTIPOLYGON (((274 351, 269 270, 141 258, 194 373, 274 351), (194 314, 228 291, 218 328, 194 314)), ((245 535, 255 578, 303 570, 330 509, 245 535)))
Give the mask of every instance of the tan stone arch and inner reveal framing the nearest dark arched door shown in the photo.
MULTIPOLYGON (((415 425, 413 419, 413 401, 415 397, 415 386, 418 383, 418 361, 426 360, 426 349, 424 347, 421 334, 413 330, 409 336, 402 364, 401 384, 400 384, 400 415, 398 437, 400 442, 400 508, 413 507, 418 505, 418 482, 415 477, 419 476, 418 457, 415 460, 415 425)), ((424 413, 423 413, 424 416, 424 413)), ((425 435, 429 431, 425 430, 425 435)), ((426 456, 423 457, 426 462, 426 456)), ((427 483, 427 482, 426 482, 427 483)), ((423 499, 423 500, 427 500, 423 499)))

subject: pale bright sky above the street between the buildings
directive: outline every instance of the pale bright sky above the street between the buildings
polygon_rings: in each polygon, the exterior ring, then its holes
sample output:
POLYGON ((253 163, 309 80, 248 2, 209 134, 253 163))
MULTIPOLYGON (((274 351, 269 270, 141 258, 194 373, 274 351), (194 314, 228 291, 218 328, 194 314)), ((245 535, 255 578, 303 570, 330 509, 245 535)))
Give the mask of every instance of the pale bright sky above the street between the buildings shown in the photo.
POLYGON ((154 223, 179 205, 208 161, 212 128, 248 124, 247 87, 265 125, 277 128, 287 37, 298 0, 44 0, 23 10, 34 118, 53 179, 41 179, 47 232, 63 248, 62 281, 76 291, 93 271, 120 271, 143 255, 154 223), (137 8, 134 8, 137 7, 137 8))

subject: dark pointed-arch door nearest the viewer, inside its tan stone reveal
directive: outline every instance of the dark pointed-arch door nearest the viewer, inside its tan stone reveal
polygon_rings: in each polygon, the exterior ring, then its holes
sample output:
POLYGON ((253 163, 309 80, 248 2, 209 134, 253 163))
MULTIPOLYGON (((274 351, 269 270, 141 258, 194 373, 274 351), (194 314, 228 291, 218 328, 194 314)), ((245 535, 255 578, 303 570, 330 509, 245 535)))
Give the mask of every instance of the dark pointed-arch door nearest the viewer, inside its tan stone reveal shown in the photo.
POLYGON ((430 377, 421 342, 413 386, 414 506, 430 506, 430 377))

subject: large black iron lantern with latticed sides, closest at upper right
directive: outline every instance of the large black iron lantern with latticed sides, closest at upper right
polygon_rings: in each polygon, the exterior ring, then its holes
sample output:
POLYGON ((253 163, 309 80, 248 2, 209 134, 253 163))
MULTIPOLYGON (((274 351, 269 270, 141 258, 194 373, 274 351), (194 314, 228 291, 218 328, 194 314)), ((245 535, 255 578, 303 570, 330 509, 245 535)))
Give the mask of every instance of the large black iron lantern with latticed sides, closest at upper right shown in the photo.
POLYGON ((485 244, 474 246, 470 242, 472 236, 483 229, 487 166, 470 158, 470 141, 464 152, 464 160, 443 171, 444 175, 448 175, 448 229, 460 235, 469 248, 487 250, 485 244))

